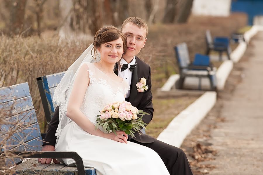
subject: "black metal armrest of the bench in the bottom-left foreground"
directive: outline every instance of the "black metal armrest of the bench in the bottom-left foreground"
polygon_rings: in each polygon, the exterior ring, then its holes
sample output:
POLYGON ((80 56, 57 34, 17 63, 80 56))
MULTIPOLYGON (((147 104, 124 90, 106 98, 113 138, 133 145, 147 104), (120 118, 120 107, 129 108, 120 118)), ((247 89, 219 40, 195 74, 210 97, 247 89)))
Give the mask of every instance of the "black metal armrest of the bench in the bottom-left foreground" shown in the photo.
POLYGON ((15 157, 23 158, 60 158, 73 159, 77 164, 78 174, 85 175, 85 168, 82 158, 76 152, 60 152, 60 151, 0 151, 0 156, 4 153, 11 153, 15 157))

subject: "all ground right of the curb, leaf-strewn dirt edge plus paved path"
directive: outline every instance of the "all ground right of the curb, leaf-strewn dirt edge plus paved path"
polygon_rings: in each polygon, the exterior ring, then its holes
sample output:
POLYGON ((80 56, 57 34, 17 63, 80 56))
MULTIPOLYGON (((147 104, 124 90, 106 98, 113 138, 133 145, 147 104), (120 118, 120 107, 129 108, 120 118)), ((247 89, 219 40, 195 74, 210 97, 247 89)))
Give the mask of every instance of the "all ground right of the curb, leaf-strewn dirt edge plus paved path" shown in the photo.
POLYGON ((224 90, 218 93, 216 105, 181 146, 195 175, 263 172, 259 129, 263 108, 263 81, 259 78, 262 39, 262 32, 252 39, 245 55, 234 65, 224 90))

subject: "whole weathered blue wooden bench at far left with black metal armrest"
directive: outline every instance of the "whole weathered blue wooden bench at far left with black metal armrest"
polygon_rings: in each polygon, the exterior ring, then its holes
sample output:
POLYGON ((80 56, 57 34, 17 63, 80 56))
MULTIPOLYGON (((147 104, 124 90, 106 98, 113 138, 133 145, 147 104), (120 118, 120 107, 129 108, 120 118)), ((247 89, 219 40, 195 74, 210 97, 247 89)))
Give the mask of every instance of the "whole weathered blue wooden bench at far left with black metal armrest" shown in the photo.
POLYGON ((94 168, 84 168, 76 152, 40 151, 42 136, 27 83, 0 88, 0 111, 6 116, 6 123, 0 128, 0 156, 9 155, 6 167, 16 165, 13 168, 17 174, 96 174, 94 168), (16 158, 11 159, 10 154, 16 158), (22 162, 21 157, 32 159, 22 162), (77 167, 39 164, 37 158, 72 158, 77 167))

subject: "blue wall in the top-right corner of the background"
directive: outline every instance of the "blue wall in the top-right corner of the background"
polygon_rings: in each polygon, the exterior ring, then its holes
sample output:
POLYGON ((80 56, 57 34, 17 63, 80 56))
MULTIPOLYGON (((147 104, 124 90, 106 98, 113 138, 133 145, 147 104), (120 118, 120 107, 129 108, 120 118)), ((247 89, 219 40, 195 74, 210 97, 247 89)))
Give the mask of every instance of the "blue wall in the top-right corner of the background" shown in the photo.
POLYGON ((263 15, 263 0, 232 0, 231 12, 248 14, 248 25, 253 25, 253 18, 263 15))

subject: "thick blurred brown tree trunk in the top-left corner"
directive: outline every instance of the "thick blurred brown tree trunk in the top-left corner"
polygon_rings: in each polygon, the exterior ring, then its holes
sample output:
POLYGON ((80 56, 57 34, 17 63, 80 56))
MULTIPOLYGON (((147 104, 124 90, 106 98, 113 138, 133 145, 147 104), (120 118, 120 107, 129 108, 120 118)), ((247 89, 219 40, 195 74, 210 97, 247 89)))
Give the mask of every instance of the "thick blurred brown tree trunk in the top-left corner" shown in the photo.
POLYGON ((9 30, 12 34, 19 34, 23 29, 26 3, 27 0, 11 0, 9 30))

